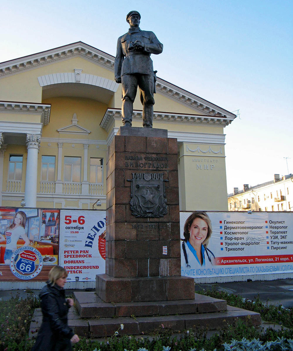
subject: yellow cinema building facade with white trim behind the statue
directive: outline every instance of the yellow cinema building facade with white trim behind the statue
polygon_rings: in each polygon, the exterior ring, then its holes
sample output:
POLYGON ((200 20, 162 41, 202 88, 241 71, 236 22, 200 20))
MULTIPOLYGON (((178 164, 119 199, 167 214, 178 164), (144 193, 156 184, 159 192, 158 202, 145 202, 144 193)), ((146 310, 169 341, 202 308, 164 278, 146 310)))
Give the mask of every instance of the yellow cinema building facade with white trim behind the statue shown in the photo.
MULTIPOLYGON (((153 127, 178 140, 180 210, 226 211, 224 127, 236 116, 160 78, 156 90, 153 127)), ((142 127, 139 94, 133 107, 142 127)), ((105 209, 120 126, 112 55, 76 42, 0 63, 0 205, 105 209)))

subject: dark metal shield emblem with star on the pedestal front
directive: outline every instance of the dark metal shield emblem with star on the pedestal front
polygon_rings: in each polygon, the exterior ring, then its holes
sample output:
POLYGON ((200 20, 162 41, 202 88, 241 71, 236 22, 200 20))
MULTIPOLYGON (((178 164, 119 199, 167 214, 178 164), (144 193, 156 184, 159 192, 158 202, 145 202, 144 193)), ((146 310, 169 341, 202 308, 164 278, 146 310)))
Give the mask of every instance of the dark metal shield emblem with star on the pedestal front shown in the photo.
POLYGON ((167 214, 163 173, 132 173, 130 210, 135 217, 159 218, 167 214))

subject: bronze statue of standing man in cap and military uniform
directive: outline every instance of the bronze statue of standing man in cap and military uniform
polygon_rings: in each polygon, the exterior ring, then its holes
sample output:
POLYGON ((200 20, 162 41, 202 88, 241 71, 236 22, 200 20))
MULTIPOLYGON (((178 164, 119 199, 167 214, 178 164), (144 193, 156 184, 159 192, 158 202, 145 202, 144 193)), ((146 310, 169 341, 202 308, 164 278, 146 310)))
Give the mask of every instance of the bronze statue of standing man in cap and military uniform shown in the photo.
POLYGON ((139 28, 140 14, 131 11, 126 16, 129 30, 118 38, 115 57, 115 81, 122 84, 122 122, 131 127, 133 102, 137 87, 140 89, 142 103, 142 125, 153 127, 153 105, 156 72, 153 69, 151 54, 160 54, 163 44, 153 32, 142 31, 139 28))

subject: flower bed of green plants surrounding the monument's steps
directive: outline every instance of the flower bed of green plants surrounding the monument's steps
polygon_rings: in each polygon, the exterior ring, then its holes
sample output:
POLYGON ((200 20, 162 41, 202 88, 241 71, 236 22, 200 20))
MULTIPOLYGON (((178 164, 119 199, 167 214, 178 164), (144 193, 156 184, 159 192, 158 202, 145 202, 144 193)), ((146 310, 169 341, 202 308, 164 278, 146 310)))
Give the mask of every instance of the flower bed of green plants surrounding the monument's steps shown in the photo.
MULTIPOLYGON (((179 336, 174 336, 172 329, 162 326, 154 331, 151 338, 145 336, 116 337, 117 333, 115 333, 113 337, 102 343, 81 338, 80 342, 73 346, 73 349, 75 351, 93 351, 95 349, 96 351, 187 351, 195 349, 197 351, 215 349, 224 351, 228 349, 245 350, 243 347, 257 343, 263 350, 281 350, 283 346, 287 347, 284 350, 290 350, 292 347, 292 309, 285 309, 282 305, 263 304, 259 297, 255 301, 251 301, 243 299, 240 295, 228 294, 227 292, 207 291, 201 293, 225 299, 229 305, 235 307, 259 312, 262 319, 281 324, 288 329, 281 327, 280 330, 276 331, 269 328, 264 332, 249 325, 249 320, 248 324, 239 321, 236 326, 220 330, 207 339, 207 330, 205 329, 182 331, 179 336), (268 349, 267 345, 271 345, 271 348, 268 349)), ((29 351, 31 349, 33 340, 28 338, 29 325, 33 311, 39 305, 40 301, 35 296, 29 296, 25 299, 16 296, 6 301, 0 301, 0 351, 29 351)))

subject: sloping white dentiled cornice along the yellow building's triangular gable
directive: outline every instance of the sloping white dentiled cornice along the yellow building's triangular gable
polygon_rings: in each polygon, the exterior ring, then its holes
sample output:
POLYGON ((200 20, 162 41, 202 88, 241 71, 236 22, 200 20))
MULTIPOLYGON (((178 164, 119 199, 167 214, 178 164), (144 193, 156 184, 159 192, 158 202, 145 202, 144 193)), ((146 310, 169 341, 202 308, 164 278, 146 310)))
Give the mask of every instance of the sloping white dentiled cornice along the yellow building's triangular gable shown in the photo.
MULTIPOLYGON (((0 79, 7 77, 8 75, 17 74, 40 66, 51 65, 55 62, 73 57, 82 57, 96 65, 114 72, 114 56, 79 41, 48 51, 2 62, 0 63, 0 79)), ((156 87, 158 94, 164 95, 169 99, 179 102, 180 104, 204 115, 210 116, 211 118, 224 117, 230 118, 231 121, 236 118, 235 114, 159 77, 157 77, 156 87)))

